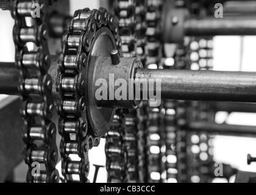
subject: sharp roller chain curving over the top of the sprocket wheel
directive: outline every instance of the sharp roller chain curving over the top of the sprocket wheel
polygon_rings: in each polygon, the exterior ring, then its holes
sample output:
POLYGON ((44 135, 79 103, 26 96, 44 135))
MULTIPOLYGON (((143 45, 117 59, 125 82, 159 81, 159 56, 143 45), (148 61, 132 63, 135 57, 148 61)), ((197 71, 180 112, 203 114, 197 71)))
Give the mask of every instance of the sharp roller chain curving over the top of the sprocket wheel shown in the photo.
POLYGON ((98 146, 99 138, 91 135, 85 105, 85 77, 88 54, 96 32, 108 27, 120 46, 116 18, 103 8, 83 9, 74 13, 72 21, 62 37, 59 56, 59 133, 62 175, 65 182, 89 182, 88 150, 98 146), (73 160, 77 155, 80 160, 73 160))

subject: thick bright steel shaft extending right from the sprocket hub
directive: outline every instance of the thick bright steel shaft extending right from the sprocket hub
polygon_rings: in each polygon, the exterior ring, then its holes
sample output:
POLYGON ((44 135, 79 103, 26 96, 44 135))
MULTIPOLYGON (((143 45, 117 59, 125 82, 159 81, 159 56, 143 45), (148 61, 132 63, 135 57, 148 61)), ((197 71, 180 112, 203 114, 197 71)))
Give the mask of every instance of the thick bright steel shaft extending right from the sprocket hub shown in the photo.
POLYGON ((252 72, 139 68, 135 83, 141 79, 161 79, 162 99, 256 102, 256 73, 252 72))

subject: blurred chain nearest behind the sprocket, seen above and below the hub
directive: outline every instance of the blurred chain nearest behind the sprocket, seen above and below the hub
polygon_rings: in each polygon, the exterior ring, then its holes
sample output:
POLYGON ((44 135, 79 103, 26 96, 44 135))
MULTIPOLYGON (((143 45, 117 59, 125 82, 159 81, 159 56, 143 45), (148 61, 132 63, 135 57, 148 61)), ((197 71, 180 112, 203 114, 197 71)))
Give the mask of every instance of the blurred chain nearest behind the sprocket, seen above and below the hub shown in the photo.
MULTIPOLYGON (((135 1, 113 1, 113 9, 118 18, 118 29, 121 37, 121 50, 123 55, 125 57, 135 57, 135 1)), ((123 111, 124 110, 121 109, 116 111, 113 124, 110 127, 110 133, 106 135, 105 154, 108 172, 107 182, 110 183, 130 182, 130 178, 127 177, 126 128, 123 111), (112 131, 116 133, 112 133, 112 131), (113 148, 115 148, 116 152, 119 152, 117 154, 118 158, 115 157, 116 155, 112 155, 113 148)), ((135 163, 135 161, 133 161, 133 163, 135 163)))

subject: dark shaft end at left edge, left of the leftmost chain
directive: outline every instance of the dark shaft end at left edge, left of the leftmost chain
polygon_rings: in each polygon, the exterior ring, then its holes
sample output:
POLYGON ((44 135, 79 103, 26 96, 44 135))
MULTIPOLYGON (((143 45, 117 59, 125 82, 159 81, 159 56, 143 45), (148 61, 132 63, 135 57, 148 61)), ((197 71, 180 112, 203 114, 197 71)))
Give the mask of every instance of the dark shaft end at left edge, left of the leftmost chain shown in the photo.
POLYGON ((18 94, 19 72, 14 63, 0 63, 0 91, 1 94, 18 94))

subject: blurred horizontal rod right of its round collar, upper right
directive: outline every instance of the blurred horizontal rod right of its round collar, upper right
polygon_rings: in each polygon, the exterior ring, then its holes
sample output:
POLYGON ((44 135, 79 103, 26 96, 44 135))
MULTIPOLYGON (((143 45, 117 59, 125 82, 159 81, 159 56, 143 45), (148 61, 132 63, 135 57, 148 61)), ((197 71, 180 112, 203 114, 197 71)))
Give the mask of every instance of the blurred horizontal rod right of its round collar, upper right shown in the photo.
POLYGON ((184 28, 187 36, 256 35, 256 16, 188 18, 184 28))

